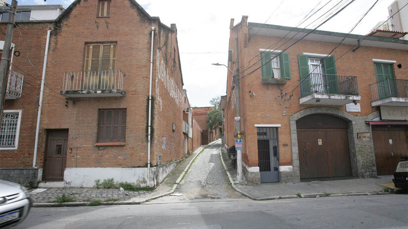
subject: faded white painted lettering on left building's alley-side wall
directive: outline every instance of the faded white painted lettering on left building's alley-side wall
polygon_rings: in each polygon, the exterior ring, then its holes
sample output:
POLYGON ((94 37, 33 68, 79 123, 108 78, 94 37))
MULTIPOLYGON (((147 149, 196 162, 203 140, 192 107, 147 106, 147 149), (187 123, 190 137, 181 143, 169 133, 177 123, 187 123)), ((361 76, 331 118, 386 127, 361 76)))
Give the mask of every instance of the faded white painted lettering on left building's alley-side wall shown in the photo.
MULTIPOLYGON (((156 65, 157 65, 156 70, 157 70, 158 78, 163 82, 164 87, 170 93, 170 96, 175 100, 176 104, 180 107, 181 106, 180 88, 177 86, 177 83, 174 81, 174 78, 169 76, 169 71, 164 62, 164 58, 160 55, 159 50, 157 50, 156 65)), ((158 79, 156 79, 156 83, 157 81, 158 79)), ((156 86, 156 88, 158 87, 156 86)), ((158 90, 156 89, 156 94, 157 93, 158 93, 158 90)), ((160 100, 160 103, 161 103, 161 100, 160 100)))

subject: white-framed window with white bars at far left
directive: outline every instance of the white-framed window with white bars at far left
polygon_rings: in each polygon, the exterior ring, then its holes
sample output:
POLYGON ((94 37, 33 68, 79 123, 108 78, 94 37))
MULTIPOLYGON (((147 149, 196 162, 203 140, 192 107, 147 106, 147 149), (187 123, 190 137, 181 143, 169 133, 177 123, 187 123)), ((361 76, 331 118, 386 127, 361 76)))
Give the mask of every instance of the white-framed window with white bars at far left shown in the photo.
POLYGON ((4 111, 0 128, 0 149, 17 149, 21 111, 4 111))

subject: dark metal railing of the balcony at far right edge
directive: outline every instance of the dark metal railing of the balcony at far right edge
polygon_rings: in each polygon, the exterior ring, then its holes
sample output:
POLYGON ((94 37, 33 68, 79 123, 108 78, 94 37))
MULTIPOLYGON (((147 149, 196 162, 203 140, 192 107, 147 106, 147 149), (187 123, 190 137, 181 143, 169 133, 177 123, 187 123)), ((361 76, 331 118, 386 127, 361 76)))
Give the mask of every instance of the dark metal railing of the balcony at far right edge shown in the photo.
POLYGON ((370 84, 371 101, 390 97, 408 98, 407 79, 384 79, 370 84))

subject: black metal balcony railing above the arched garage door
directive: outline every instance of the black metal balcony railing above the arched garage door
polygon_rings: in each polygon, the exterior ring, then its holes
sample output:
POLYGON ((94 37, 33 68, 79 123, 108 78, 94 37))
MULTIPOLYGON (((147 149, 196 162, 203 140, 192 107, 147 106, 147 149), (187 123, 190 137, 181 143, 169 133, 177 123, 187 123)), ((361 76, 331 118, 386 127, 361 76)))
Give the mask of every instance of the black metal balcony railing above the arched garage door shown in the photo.
POLYGON ((359 95, 357 76, 328 75, 311 73, 301 78, 302 97, 312 93, 359 95))

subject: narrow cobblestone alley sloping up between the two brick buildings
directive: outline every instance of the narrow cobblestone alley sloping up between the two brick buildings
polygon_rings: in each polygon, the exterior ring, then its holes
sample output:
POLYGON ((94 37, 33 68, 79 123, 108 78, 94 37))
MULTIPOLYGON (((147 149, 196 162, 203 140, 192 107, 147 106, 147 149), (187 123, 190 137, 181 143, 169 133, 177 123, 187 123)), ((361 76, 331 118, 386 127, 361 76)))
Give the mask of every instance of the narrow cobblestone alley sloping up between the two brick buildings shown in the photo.
POLYGON ((229 184, 220 146, 221 142, 210 145, 195 158, 173 195, 153 201, 246 198, 229 184))

